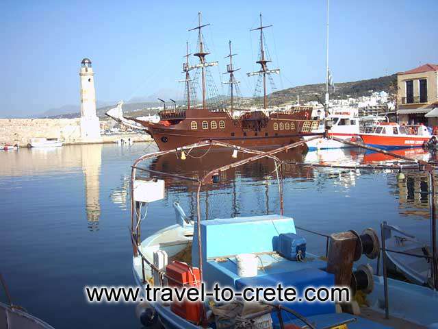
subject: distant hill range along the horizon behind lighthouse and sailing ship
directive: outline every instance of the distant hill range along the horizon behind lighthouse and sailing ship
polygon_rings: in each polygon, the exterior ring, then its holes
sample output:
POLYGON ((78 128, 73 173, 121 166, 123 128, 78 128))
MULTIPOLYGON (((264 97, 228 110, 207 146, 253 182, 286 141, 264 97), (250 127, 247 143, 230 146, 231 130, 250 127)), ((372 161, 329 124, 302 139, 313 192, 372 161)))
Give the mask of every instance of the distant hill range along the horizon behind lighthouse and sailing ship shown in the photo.
MULTIPOLYGON (((386 91, 389 94, 396 93, 397 86, 397 75, 387 75, 385 77, 377 77, 375 79, 369 80, 359 80, 355 82, 342 82, 339 84, 335 84, 335 91, 331 93, 332 99, 346 99, 348 97, 357 98, 361 96, 369 96, 373 91, 386 91)), ((269 95, 270 103, 286 103, 287 101, 294 101, 296 97, 300 96, 300 103, 305 103, 307 101, 317 101, 318 97, 320 99, 324 99, 325 93, 325 84, 306 84, 305 86, 296 86, 293 88, 287 88, 283 90, 276 91, 269 95), (316 97, 315 95, 318 95, 316 97)), ((222 99, 226 99, 227 97, 221 96, 222 99)), ((147 97, 148 99, 153 99, 153 96, 147 97)), ((251 99, 247 97, 242 98, 243 103, 249 103, 251 99)), ((177 104, 180 105, 182 101, 177 101, 177 104)), ((110 108, 114 108, 116 103, 107 102, 105 104, 99 104, 97 108, 97 116, 104 118, 105 112, 110 110, 110 108), (99 106, 100 105, 100 106, 99 106)), ((162 106, 162 103, 159 101, 135 101, 133 103, 125 103, 123 104, 123 111, 125 113, 131 113, 136 117, 140 117, 142 115, 151 114, 152 112, 156 112, 154 110, 146 110, 146 108, 153 108, 157 106, 162 106)), ((169 108, 172 106, 171 101, 166 102, 166 106, 169 108)), ((44 114, 53 113, 52 115, 46 115, 45 117, 51 118, 77 118, 79 117, 79 106, 63 106, 62 108, 52 109, 44 114), (71 109, 68 112, 68 109, 71 109), (55 113, 56 111, 61 113, 55 113)))

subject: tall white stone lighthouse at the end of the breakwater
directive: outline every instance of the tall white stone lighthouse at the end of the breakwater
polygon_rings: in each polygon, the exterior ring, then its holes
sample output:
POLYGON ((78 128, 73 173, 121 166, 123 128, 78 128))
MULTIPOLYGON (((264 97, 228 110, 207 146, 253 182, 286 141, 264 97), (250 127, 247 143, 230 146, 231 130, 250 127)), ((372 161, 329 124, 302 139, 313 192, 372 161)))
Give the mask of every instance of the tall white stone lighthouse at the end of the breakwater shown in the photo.
POLYGON ((84 141, 100 141, 101 127, 96 117, 96 90, 94 89, 94 72, 91 60, 84 58, 81 62, 81 138, 84 141))

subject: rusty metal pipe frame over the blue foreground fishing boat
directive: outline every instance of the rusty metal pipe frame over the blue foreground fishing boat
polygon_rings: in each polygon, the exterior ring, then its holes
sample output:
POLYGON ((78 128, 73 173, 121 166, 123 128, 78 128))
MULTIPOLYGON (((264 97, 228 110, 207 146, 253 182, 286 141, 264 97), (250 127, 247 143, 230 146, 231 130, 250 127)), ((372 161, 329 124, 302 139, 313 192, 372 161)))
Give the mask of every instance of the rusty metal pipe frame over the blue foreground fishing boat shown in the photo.
MULTIPOLYGON (((307 135, 312 135, 312 134, 307 134, 307 135)), ((433 256, 432 256, 432 273, 433 273, 433 283, 434 283, 434 288, 435 290, 438 290, 438 259, 437 259, 437 233, 436 233, 436 229, 437 229, 437 223, 436 223, 436 195, 435 195, 435 175, 433 173, 434 169, 437 169, 437 167, 434 164, 431 164, 429 162, 426 162, 424 160, 416 160, 416 159, 412 159, 406 156, 400 156, 398 154, 394 154, 391 151, 386 151, 383 149, 378 149, 377 147, 370 147, 368 145, 363 145, 360 143, 355 143, 355 142, 351 142, 351 141, 344 141, 341 138, 336 138, 334 136, 329 136, 329 134, 327 133, 327 131, 321 135, 321 134, 314 134, 313 137, 307 139, 307 140, 302 140, 302 141, 298 141, 296 143, 292 143, 290 145, 286 145, 284 147, 279 147, 276 149, 273 149, 272 151, 267 151, 267 152, 263 152, 263 151, 258 151, 255 149, 247 149, 245 147, 237 147, 235 145, 229 144, 229 143, 223 143, 220 141, 201 141, 199 143, 195 143, 192 145, 188 145, 185 147, 178 147, 177 149, 172 149, 172 150, 168 150, 168 151, 157 151, 155 153, 152 154, 146 154, 144 156, 140 156, 140 158, 138 158, 133 165, 131 166, 131 186, 130 186, 130 195, 131 195, 131 242, 133 244, 133 253, 134 256, 138 256, 138 254, 140 254, 140 256, 142 257, 142 280, 144 282, 144 261, 146 261, 146 263, 148 263, 148 265, 151 267, 151 269, 153 270, 157 270, 159 271, 153 264, 151 264, 142 254, 142 252, 138 249, 138 247, 140 246, 141 240, 140 240, 140 225, 138 225, 138 219, 135 218, 134 216, 134 210, 136 210, 136 202, 133 199, 133 181, 135 180, 136 177, 136 171, 137 170, 142 170, 142 171, 148 171, 149 173, 156 173, 158 175, 168 175, 168 176, 172 176, 174 178, 177 179, 182 179, 182 180, 190 180, 192 182, 197 182, 198 183, 198 189, 197 189, 197 193, 196 193, 196 208, 197 208, 197 218, 196 218, 196 230, 197 230, 197 238, 198 238, 198 266, 200 269, 200 280, 201 282, 203 281, 203 260, 202 260, 202 243, 201 243, 201 230, 200 230, 200 225, 201 225, 201 189, 202 187, 207 184, 209 182, 209 180, 211 180, 211 178, 213 177, 213 175, 216 175, 222 171, 227 171, 229 169, 232 168, 236 168, 236 167, 240 167, 244 164, 247 164, 249 162, 253 162, 253 161, 257 161, 260 160, 261 158, 271 158, 272 160, 274 160, 274 162, 276 162, 276 164, 280 164, 280 173, 279 173, 279 194, 280 194, 280 213, 281 215, 283 215, 283 164, 285 163, 289 163, 289 164, 296 164, 296 165, 301 165, 301 166, 309 166, 309 167, 329 167, 329 168, 342 168, 342 169, 398 169, 399 171, 401 171, 402 169, 416 169, 418 171, 426 171, 428 172, 429 175, 429 195, 430 195, 430 226, 431 226, 431 243, 433 244, 433 256), (281 161, 276 154, 279 154, 283 151, 288 151, 289 149, 293 149, 295 147, 298 147, 300 145, 304 145, 305 143, 307 143, 308 141, 313 141, 314 139, 317 138, 327 138, 327 139, 332 139, 333 141, 337 141, 339 143, 344 143, 346 145, 350 145, 353 147, 360 147, 362 149, 369 149, 371 151, 376 151, 378 153, 381 154, 386 154, 388 156, 394 157, 394 158, 398 158, 400 160, 404 160, 404 161, 409 161, 411 162, 410 164, 394 164, 394 165, 378 165, 378 166, 373 166, 373 165, 360 165, 360 166, 344 166, 344 165, 335 165, 335 164, 309 164, 309 163, 299 163, 299 162, 287 162, 287 161, 281 161), (241 151, 243 153, 246 154, 253 154, 253 156, 251 156, 250 158, 246 158, 244 160, 240 160, 237 162, 233 162, 231 164, 227 164, 224 165, 220 168, 214 169, 209 171, 209 173, 207 173, 206 175, 203 176, 203 178, 201 178, 200 180, 194 179, 194 178, 188 178, 182 175, 177 175, 177 174, 171 174, 171 173, 163 173, 160 171, 153 171, 151 169, 144 169, 141 167, 138 167, 138 164, 144 160, 148 160, 150 158, 157 158, 159 156, 164 156, 166 154, 171 154, 171 153, 175 153, 175 154, 179 154, 179 152, 181 151, 185 151, 185 150, 189 150, 191 151, 192 149, 198 149, 201 147, 211 147, 211 146, 215 146, 215 147, 224 147, 224 148, 229 148, 229 149, 238 149, 238 151, 241 151), (134 226, 134 224, 136 224, 136 226, 134 226), (134 232, 134 227, 136 227, 136 230, 134 232)), ((298 228, 301 229, 301 228, 298 228)), ((304 229, 301 229, 304 230, 304 229)), ((308 230, 307 230, 308 231, 308 230)), ((312 231, 308 231, 311 232, 313 234, 318 234, 321 236, 324 236, 327 240, 327 242, 329 241, 328 236, 326 234, 319 234, 318 232, 312 232, 312 231)), ((383 238, 382 238, 383 239, 383 238)), ((385 243, 383 241, 383 243, 385 243)), ((385 249, 385 245, 383 247, 383 249, 385 249)), ((385 259, 385 255, 383 252, 383 258, 385 259)), ((384 260, 383 259, 383 260, 384 260)), ((384 266, 384 271, 385 271, 385 265, 384 266)), ((159 271, 160 272, 160 271, 159 271)), ((166 276, 165 273, 162 273, 162 275, 160 276, 160 278, 162 278, 163 276, 166 276)), ((384 277, 385 277, 385 273, 384 273, 384 277)), ((145 283, 145 282, 144 282, 145 283)), ((387 301, 387 282, 385 280, 385 313, 388 316, 389 313, 389 306, 388 306, 388 301, 387 301)))

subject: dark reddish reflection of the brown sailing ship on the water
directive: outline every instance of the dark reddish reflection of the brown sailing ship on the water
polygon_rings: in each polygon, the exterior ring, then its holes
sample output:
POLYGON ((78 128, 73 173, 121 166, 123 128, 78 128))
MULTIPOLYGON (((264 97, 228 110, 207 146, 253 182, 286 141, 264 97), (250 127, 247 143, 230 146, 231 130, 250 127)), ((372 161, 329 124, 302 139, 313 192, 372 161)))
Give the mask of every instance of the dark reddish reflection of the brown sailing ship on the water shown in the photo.
MULTIPOLYGON (((186 160, 177 158, 175 154, 168 154, 149 160, 142 166, 153 171, 177 173, 199 179, 213 169, 251 156, 239 152, 237 159, 233 159, 231 153, 229 149, 212 149, 208 152, 201 150, 190 152, 186 160)), ((290 162, 302 162, 302 149, 284 152, 279 154, 279 158, 290 162)), ((152 176, 157 177, 157 174, 152 174, 152 176)), ((283 167, 283 176, 310 182, 313 178, 313 171, 295 164, 286 164, 283 167)), ((188 212, 187 215, 194 219, 196 217, 197 184, 168 176, 160 178, 166 184, 166 202, 181 202, 188 212)), ((201 195, 201 208, 205 218, 220 217, 220 215, 237 217, 248 214, 248 212, 254 214, 278 212, 278 202, 276 165, 274 160, 268 158, 220 172, 220 182, 206 184, 201 195), (274 191, 270 191, 271 185, 274 185, 274 191), (276 195, 270 196, 271 193, 276 193, 276 195), (242 209, 242 204, 248 204, 246 201, 248 197, 251 199, 250 206, 248 206, 250 209, 242 209)))

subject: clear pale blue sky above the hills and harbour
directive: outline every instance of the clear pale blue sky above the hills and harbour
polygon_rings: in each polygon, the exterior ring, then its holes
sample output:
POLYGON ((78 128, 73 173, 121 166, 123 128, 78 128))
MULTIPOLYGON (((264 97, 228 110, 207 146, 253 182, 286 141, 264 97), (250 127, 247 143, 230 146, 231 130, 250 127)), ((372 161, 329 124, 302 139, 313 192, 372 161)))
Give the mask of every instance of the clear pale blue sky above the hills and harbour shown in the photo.
MULTIPOLYGON (((233 42, 242 95, 253 94, 258 69, 259 14, 276 87, 324 82, 326 0, 289 1, 1 1, 0 117, 40 114, 79 105, 79 67, 90 58, 99 101, 129 101, 175 90, 185 41, 194 50, 198 12, 210 23, 204 36, 219 61, 212 73, 220 92, 228 42, 233 42)), ((329 66, 334 82, 381 77, 438 64, 437 0, 331 0, 329 66)), ((192 62, 196 62, 193 58, 192 62)))

